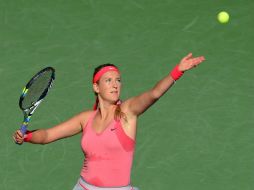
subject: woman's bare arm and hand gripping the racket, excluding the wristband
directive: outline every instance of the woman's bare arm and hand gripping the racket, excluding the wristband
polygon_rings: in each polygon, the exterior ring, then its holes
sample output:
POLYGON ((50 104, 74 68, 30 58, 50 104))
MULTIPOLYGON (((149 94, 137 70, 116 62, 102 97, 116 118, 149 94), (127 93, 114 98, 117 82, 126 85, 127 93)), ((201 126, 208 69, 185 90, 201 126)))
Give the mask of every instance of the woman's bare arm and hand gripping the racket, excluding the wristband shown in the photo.
MULTIPOLYGON (((32 132, 32 138, 29 142, 33 144, 48 144, 62 138, 76 135, 83 130, 90 114, 91 111, 81 112, 52 128, 35 130, 32 132)), ((16 143, 22 144, 24 136, 20 130, 17 130, 13 135, 13 139, 16 143)))

